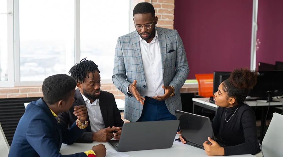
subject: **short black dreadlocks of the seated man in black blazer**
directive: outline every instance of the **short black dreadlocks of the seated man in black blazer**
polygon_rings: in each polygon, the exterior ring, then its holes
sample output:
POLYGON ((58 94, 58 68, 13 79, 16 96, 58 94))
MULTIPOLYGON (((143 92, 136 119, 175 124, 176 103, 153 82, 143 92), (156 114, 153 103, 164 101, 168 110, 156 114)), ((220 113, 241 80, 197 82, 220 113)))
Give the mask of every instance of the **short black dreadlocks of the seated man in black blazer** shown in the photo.
POLYGON ((88 73, 92 72, 92 78, 93 73, 98 70, 98 65, 96 65, 93 61, 89 61, 86 58, 82 59, 80 63, 75 64, 69 71, 69 74, 73 78, 75 78, 76 82, 84 82, 84 78, 88 77, 88 73))

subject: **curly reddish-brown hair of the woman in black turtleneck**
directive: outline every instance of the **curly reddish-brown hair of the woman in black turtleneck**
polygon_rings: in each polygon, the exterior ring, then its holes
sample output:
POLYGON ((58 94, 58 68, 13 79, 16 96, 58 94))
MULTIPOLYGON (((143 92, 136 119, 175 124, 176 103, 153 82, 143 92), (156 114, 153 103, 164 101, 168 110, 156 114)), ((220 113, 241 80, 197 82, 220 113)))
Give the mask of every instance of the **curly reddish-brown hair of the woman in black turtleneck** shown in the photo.
POLYGON ((257 83, 257 71, 247 68, 234 69, 230 77, 223 82, 222 89, 228 97, 235 97, 238 104, 242 104, 249 94, 249 89, 257 83))

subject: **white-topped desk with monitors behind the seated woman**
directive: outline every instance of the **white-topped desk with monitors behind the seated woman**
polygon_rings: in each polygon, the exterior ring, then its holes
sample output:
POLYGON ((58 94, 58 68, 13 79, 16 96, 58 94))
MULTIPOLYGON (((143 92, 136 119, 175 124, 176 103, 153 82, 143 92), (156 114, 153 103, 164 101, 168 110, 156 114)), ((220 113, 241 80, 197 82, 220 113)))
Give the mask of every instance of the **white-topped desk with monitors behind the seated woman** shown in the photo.
MULTIPOLYGON (((196 106, 200 106, 209 110, 217 111, 218 106, 214 103, 209 102, 209 98, 193 98, 193 113, 196 111, 196 106)), ((278 99, 273 99, 278 100, 278 99)), ((278 100, 279 102, 270 102, 270 104, 263 100, 257 100, 257 101, 245 101, 245 103, 251 107, 261 107, 262 109, 262 116, 261 116, 261 129, 260 129, 260 143, 262 143, 263 137, 264 137, 264 126, 265 124, 265 116, 267 114, 267 111, 264 110, 263 106, 282 106, 283 99, 281 98, 278 100)))

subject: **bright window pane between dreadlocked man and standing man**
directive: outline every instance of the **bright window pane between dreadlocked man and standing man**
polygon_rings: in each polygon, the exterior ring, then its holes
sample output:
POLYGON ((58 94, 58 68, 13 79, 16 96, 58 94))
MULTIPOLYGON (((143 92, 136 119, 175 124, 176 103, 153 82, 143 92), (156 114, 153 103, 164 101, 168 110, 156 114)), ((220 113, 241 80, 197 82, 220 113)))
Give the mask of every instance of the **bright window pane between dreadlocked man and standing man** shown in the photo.
POLYGON ((130 32, 129 11, 129 0, 80 1, 80 59, 95 62, 102 79, 112 78, 117 39, 130 32))

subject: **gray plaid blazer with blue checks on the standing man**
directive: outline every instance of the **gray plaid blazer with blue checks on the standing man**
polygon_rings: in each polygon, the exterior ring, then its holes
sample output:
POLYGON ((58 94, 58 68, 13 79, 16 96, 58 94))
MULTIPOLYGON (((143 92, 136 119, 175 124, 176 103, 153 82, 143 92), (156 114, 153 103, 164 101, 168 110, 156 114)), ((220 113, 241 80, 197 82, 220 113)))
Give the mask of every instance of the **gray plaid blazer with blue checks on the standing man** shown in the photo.
MULTIPOLYGON (((182 110, 180 88, 189 74, 189 66, 182 39, 177 30, 156 27, 161 50, 161 62, 164 86, 172 85, 175 95, 165 100, 170 113, 182 110)), ((127 93, 129 84, 137 81, 137 90, 142 97, 145 95, 147 83, 142 64, 139 34, 133 31, 118 38, 112 80, 114 85, 125 94, 125 119, 136 122, 143 105, 127 93)))

